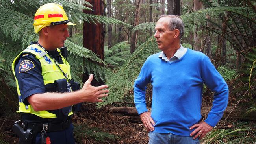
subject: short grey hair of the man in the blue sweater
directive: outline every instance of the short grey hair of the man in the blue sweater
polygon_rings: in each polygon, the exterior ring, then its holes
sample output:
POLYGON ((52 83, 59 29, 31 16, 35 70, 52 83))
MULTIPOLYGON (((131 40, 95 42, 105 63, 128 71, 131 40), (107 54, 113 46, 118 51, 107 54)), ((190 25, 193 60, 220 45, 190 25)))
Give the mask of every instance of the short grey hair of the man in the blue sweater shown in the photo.
POLYGON ((169 29, 174 30, 178 29, 180 30, 180 39, 184 35, 184 23, 180 19, 178 15, 161 15, 162 17, 169 17, 169 29))

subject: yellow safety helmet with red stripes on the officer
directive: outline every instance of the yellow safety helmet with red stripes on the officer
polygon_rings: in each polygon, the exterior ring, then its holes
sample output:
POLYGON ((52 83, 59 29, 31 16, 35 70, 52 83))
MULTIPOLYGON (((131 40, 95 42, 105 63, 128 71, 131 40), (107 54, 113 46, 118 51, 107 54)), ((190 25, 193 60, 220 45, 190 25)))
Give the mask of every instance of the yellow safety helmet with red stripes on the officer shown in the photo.
POLYGON ((38 33, 42 28, 46 26, 58 24, 75 25, 72 22, 69 22, 66 12, 59 4, 44 4, 35 13, 33 23, 35 33, 38 33))

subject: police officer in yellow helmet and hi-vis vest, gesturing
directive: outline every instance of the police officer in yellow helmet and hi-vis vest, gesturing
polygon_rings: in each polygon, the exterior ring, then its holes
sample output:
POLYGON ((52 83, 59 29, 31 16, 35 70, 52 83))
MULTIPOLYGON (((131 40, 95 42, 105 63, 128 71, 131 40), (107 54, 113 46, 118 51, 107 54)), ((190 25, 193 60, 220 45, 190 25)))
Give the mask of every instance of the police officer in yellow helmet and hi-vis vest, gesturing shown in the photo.
POLYGON ((69 37, 68 17, 62 6, 48 3, 34 17, 38 42, 32 43, 13 61, 19 113, 23 128, 33 129, 35 144, 74 144, 72 105, 81 102, 102 102, 108 96, 107 85, 91 86, 93 75, 82 89, 73 91, 74 82, 66 55, 59 48, 69 37))

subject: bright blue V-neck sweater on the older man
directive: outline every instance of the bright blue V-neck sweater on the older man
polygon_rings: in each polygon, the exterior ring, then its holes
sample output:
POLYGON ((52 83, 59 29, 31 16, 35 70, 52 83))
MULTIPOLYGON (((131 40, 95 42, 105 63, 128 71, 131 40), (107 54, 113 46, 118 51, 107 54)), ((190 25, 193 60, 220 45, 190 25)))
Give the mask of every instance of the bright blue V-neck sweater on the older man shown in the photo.
POLYGON ((147 58, 134 82, 134 103, 139 114, 148 111, 145 90, 148 83, 153 86, 153 133, 189 136, 193 131, 189 127, 201 119, 203 84, 215 92, 213 107, 205 120, 214 127, 226 109, 228 86, 210 59, 190 49, 172 63, 160 59, 159 54, 147 58))

